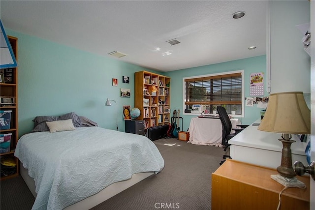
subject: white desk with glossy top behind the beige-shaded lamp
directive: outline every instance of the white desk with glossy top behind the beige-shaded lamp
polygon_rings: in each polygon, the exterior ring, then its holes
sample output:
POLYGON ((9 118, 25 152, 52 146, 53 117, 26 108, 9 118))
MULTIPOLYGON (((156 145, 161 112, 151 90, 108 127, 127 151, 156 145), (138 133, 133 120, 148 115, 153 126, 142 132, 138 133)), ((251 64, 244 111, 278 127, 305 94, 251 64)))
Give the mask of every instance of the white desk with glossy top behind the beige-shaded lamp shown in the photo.
MULTIPOLYGON (((260 123, 260 120, 255 123, 260 123)), ((281 139, 282 134, 260 131, 257 127, 250 125, 228 141, 231 144, 230 156, 234 160, 277 168, 281 165, 283 146, 278 139, 281 139)), ((292 140, 296 141, 291 144, 292 164, 298 160, 308 165, 305 154, 307 144, 296 135, 292 135, 292 140)))

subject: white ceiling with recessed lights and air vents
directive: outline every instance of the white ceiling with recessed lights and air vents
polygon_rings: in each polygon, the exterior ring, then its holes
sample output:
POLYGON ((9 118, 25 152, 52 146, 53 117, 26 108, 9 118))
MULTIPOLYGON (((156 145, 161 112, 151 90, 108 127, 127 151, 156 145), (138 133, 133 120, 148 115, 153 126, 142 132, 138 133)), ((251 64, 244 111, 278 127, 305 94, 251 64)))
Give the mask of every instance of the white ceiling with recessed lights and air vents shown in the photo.
POLYGON ((1 0, 0 17, 6 29, 145 68, 173 71, 265 55, 267 3, 1 0), (232 14, 240 10, 245 16, 233 19, 232 14), (166 42, 174 38, 181 43, 166 42), (252 45, 257 48, 248 50, 252 45), (112 51, 127 56, 114 58, 108 55, 112 51))

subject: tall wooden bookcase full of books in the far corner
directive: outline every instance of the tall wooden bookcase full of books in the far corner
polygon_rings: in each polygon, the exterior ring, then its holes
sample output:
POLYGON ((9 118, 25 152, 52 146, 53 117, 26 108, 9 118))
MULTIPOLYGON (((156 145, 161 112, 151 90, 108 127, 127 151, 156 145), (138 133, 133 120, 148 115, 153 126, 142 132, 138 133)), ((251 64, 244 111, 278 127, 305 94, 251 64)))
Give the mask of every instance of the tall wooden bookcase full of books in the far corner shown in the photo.
POLYGON ((134 73, 134 107, 140 109, 138 120, 145 129, 170 122, 170 78, 139 71, 134 73))

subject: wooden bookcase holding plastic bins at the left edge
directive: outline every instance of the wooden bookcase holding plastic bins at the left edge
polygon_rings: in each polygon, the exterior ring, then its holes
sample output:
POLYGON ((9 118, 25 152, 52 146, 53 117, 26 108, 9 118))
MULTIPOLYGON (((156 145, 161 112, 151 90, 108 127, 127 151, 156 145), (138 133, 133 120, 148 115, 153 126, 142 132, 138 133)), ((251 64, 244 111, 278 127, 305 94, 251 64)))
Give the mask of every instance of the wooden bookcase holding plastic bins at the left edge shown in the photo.
MULTIPOLYGON (((18 39, 16 37, 8 36, 8 40, 11 44, 13 53, 15 55, 15 59, 18 60, 18 39)), ((1 153, 1 160, 5 158, 14 158, 15 164, 16 164, 16 172, 9 176, 3 176, 1 177, 1 180, 17 177, 19 175, 19 161, 16 157, 14 157, 14 151, 16 144, 18 142, 18 69, 17 68, 8 68, 7 69, 1 69, 4 72, 12 72, 10 76, 11 81, 2 81, 0 83, 0 89, 1 89, 1 97, 14 97, 14 104, 11 105, 5 105, 1 104, 0 110, 3 111, 10 111, 11 113, 11 121, 10 121, 10 129, 0 130, 1 134, 6 133, 12 133, 11 135, 11 142, 10 142, 10 150, 8 152, 1 153)), ((7 74, 7 73, 4 73, 7 74)), ((10 74, 7 74, 10 75, 10 74)), ((6 75, 4 75, 5 78, 6 75)))

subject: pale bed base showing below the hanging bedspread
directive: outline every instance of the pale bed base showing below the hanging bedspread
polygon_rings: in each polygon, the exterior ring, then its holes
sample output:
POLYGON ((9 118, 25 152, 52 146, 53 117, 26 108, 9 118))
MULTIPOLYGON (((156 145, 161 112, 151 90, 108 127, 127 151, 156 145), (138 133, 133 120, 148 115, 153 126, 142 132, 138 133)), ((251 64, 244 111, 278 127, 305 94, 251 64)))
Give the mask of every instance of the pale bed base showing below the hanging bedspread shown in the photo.
MULTIPOLYGON (((31 190, 33 196, 36 198, 37 193, 35 192, 35 181, 32 179, 32 177, 29 176, 28 169, 24 168, 21 164, 20 173, 25 181, 25 183, 28 185, 29 189, 31 190)), ((125 189, 131 187, 132 185, 138 183, 141 180, 144 180, 152 175, 155 175, 154 172, 145 172, 145 173, 138 173, 132 175, 131 179, 119 181, 110 184, 106 188, 102 189, 95 195, 92 195, 90 197, 87 197, 83 199, 82 201, 79 201, 75 204, 72 204, 68 207, 66 207, 64 210, 89 210, 96 205, 106 201, 107 199, 113 197, 114 195, 117 195, 118 193, 124 191, 125 189)))

